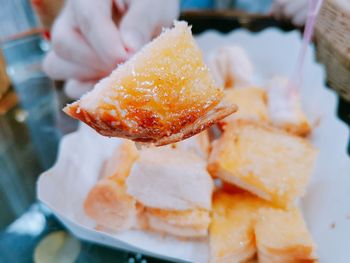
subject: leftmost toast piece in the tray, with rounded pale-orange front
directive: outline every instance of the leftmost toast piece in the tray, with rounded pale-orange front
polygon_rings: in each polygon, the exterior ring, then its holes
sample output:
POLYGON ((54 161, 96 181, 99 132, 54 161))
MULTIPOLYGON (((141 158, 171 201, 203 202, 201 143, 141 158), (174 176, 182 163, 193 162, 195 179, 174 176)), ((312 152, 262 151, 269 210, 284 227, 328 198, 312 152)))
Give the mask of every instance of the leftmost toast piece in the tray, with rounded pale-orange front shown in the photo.
POLYGON ((126 193, 125 186, 137 156, 134 143, 125 140, 107 161, 103 178, 88 193, 84 210, 100 228, 121 231, 137 225, 141 206, 126 193))

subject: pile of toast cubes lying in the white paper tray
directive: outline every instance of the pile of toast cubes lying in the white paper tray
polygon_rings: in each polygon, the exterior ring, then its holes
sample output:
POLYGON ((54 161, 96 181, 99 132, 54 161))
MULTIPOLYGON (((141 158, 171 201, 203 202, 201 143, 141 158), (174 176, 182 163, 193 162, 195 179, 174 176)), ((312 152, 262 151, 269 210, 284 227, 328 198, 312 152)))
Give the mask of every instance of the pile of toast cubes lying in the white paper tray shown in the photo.
POLYGON ((210 262, 316 262, 297 202, 317 150, 299 97, 283 83, 225 87, 238 112, 218 123, 220 135, 142 149, 123 140, 84 203, 96 228, 205 241, 210 262))

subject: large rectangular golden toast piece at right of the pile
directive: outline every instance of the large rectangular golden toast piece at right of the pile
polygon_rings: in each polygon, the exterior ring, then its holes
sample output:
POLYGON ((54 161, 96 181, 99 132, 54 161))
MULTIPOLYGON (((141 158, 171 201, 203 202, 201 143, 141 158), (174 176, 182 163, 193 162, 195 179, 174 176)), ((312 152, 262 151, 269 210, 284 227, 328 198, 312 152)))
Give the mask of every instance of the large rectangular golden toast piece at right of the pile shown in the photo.
POLYGON ((212 147, 213 176, 282 207, 304 193, 317 156, 305 139, 241 121, 228 125, 212 147))

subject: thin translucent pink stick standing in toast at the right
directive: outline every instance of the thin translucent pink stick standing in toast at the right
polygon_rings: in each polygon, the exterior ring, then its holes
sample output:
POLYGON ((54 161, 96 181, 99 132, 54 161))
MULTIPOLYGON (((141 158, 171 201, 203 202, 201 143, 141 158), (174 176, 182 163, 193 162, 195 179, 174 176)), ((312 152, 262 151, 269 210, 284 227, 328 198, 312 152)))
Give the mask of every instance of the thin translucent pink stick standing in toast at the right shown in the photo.
POLYGON ((297 63, 293 75, 289 79, 288 90, 290 95, 295 95, 299 92, 303 81, 303 69, 306 51, 311 41, 311 37, 314 31, 315 21, 318 12, 322 6, 323 0, 309 0, 309 7, 307 12, 307 20, 304 29, 303 43, 299 50, 297 63))

